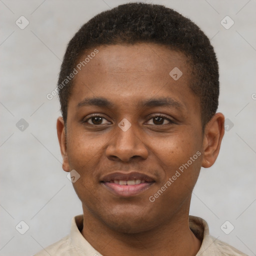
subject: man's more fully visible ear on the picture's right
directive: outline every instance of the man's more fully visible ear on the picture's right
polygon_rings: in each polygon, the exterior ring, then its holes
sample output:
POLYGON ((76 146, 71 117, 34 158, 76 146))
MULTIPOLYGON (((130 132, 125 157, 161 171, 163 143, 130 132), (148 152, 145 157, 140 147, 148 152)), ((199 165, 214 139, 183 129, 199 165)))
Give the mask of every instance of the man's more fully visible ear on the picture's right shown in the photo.
POLYGON ((216 113, 204 128, 202 167, 210 167, 216 160, 224 135, 224 115, 216 113))

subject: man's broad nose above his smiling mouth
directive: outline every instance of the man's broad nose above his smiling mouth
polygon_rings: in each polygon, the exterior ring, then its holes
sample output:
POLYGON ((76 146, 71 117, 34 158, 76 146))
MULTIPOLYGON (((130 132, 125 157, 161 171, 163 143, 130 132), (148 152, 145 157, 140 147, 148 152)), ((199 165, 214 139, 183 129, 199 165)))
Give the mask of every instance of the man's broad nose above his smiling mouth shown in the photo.
POLYGON ((133 158, 147 158, 148 150, 138 132, 135 134, 133 127, 134 125, 131 125, 126 131, 118 126, 115 128, 105 151, 108 159, 127 162, 133 158))

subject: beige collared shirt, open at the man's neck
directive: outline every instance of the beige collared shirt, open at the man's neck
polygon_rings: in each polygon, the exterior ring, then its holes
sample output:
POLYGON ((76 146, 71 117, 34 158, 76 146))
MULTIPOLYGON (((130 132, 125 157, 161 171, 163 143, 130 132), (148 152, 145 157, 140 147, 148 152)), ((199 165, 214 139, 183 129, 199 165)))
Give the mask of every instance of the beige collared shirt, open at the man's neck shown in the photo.
MULTIPOLYGON (((34 256, 101 256, 80 233, 82 224, 83 215, 73 217, 70 234, 34 256)), ((247 256, 231 245, 210 236, 208 225, 202 218, 189 216, 189 227, 196 237, 202 239, 196 256, 247 256)))

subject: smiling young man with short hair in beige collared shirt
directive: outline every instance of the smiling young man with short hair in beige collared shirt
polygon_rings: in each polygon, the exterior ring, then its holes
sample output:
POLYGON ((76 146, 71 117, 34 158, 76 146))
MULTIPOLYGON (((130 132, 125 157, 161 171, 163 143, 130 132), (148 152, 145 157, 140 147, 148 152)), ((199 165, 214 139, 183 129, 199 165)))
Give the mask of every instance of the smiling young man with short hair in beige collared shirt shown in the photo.
POLYGON ((161 5, 128 3, 70 40, 57 135, 83 214, 42 255, 245 255, 189 216, 224 134, 208 38, 161 5))

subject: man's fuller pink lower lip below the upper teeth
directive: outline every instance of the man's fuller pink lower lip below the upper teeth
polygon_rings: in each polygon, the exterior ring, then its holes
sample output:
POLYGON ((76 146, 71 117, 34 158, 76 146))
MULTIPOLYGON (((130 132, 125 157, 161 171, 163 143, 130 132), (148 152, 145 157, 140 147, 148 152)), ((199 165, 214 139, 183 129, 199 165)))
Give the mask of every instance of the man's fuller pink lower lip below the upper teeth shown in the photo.
POLYGON ((108 189, 110 189, 112 192, 119 196, 132 196, 136 195, 150 187, 154 182, 144 182, 140 184, 135 185, 119 185, 116 183, 111 182, 102 182, 104 186, 106 186, 108 189))

